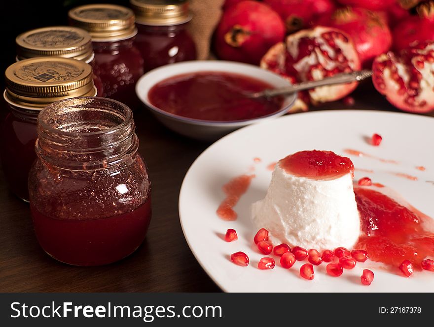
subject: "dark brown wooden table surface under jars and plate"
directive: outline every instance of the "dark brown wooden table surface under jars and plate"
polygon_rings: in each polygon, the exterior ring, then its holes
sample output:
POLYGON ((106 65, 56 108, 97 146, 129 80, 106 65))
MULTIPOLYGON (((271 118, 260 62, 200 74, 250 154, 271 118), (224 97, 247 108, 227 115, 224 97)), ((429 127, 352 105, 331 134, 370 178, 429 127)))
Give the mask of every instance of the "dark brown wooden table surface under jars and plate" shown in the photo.
MULTIPOLYGON (((369 82, 353 96, 356 104, 351 109, 397 111, 369 82)), ((314 110, 344 108, 349 107, 335 102, 314 110)), ((61 264, 40 248, 29 205, 8 191, 0 174, 0 292, 220 291, 193 257, 178 215, 182 179, 210 144, 169 131, 143 108, 138 108, 134 117, 140 152, 152 182, 152 219, 143 245, 128 258, 108 266, 61 264)))

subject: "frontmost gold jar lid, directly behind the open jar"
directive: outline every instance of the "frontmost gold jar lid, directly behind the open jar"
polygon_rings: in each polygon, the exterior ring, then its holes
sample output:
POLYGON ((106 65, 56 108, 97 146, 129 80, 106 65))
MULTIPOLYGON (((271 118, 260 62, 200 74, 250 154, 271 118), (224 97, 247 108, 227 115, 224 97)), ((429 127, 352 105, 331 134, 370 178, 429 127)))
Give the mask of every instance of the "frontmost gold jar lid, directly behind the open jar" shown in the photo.
POLYGON ((63 99, 96 95, 92 66, 75 59, 24 59, 11 64, 5 78, 6 101, 33 110, 63 99))

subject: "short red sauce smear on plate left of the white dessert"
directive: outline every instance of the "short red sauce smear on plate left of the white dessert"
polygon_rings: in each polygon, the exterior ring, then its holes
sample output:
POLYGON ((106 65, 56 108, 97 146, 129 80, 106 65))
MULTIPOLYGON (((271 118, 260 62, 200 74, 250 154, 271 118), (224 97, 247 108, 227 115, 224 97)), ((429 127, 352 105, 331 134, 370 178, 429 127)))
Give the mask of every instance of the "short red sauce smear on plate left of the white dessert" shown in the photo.
POLYGON ((228 183, 223 185, 223 192, 226 198, 217 208, 217 215, 224 220, 235 220, 238 215, 234 211, 235 205, 240 200, 241 196, 246 193, 250 186, 250 182, 255 175, 241 175, 232 178, 228 183))

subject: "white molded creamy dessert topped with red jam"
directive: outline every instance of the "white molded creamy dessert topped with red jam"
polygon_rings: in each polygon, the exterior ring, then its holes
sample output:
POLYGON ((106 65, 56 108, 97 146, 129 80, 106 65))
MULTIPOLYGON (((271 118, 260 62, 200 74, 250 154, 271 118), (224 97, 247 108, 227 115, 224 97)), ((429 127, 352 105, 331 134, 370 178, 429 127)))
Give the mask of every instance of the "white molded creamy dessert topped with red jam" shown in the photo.
POLYGON ((280 160, 267 194, 253 204, 253 223, 273 244, 351 248, 360 236, 354 166, 331 151, 300 151, 280 160))

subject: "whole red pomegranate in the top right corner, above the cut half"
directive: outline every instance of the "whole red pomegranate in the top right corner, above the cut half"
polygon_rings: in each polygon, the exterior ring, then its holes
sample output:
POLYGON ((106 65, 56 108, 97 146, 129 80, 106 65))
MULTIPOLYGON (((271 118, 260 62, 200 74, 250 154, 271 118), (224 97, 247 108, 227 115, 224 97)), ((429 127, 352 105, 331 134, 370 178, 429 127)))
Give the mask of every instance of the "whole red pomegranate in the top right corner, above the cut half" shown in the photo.
POLYGON ((393 48, 406 49, 414 41, 434 40, 434 1, 417 7, 419 15, 400 22, 393 30, 393 48))

